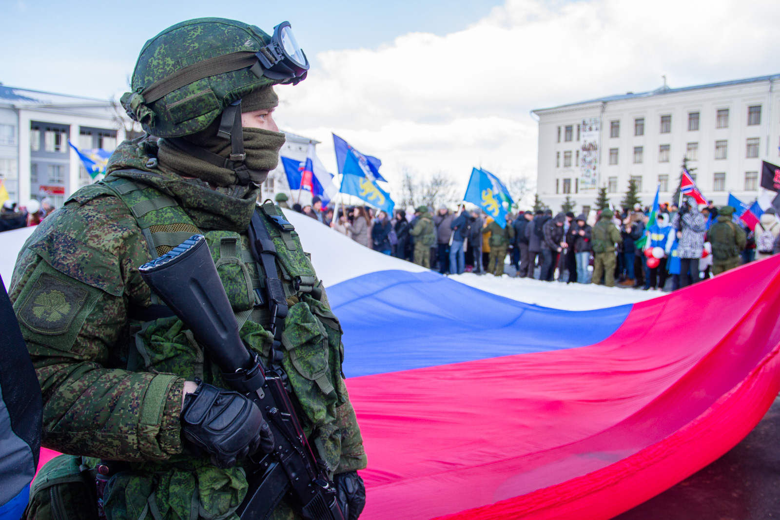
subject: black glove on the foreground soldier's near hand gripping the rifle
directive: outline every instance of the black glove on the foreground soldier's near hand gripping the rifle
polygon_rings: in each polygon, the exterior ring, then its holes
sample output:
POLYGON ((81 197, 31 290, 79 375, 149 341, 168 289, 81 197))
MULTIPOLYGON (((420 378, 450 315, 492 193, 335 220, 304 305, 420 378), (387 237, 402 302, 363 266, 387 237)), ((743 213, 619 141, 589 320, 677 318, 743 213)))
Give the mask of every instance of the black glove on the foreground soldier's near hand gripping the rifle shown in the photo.
POLYGON ((184 437, 211 455, 211 464, 232 468, 259 447, 274 450, 274 436, 254 402, 238 392, 200 383, 182 407, 184 437))

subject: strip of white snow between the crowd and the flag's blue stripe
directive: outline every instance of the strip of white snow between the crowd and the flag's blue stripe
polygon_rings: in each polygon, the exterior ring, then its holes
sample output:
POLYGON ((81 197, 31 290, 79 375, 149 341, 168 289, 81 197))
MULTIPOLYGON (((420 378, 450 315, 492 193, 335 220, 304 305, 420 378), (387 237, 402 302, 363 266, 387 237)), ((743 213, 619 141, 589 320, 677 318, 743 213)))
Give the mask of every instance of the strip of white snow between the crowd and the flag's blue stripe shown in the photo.
POLYGON ((658 298, 665 294, 661 291, 641 291, 633 288, 509 278, 508 274, 496 278, 492 274, 463 273, 449 278, 519 302, 562 310, 604 309, 658 298))

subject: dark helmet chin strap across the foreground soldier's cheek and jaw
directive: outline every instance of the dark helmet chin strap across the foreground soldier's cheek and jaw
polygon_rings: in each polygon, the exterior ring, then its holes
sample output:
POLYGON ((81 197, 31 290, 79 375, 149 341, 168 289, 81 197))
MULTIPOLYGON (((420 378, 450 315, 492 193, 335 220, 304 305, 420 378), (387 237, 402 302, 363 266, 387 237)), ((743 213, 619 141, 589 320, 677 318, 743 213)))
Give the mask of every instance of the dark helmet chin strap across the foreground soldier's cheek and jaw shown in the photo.
POLYGON ((193 157, 214 164, 219 168, 226 168, 236 172, 238 183, 241 186, 246 186, 250 182, 261 184, 266 176, 267 172, 251 170, 246 167, 244 161, 246 161, 246 153, 243 149, 243 127, 241 125, 241 100, 233 101, 229 104, 224 111, 222 111, 222 119, 219 121, 219 129, 217 136, 222 139, 230 140, 230 155, 227 159, 217 154, 212 154, 208 150, 204 150, 196 144, 190 143, 190 141, 183 137, 168 137, 166 140, 176 145, 179 150, 182 150, 186 154, 190 154, 193 157))

